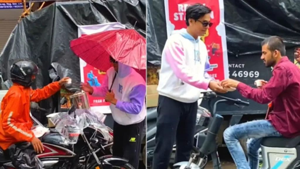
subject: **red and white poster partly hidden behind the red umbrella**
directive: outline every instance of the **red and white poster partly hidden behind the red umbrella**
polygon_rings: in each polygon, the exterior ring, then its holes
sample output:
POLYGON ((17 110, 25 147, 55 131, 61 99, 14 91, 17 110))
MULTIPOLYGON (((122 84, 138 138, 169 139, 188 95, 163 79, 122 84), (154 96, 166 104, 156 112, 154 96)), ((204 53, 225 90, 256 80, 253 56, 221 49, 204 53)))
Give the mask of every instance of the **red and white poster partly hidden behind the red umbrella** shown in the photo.
MULTIPOLYGON (((125 26, 118 22, 104 23, 98 25, 84 25, 78 26, 78 37, 84 35, 90 35, 93 33, 104 32, 116 29, 125 29, 125 26)), ((87 64, 84 60, 79 58, 80 64, 80 77, 82 82, 88 82, 91 86, 99 87, 103 83, 106 72, 101 72, 95 67, 87 64)), ((93 97, 88 95, 89 104, 93 111, 98 111, 101 113, 111 113, 110 103, 105 102, 104 97, 93 97)))

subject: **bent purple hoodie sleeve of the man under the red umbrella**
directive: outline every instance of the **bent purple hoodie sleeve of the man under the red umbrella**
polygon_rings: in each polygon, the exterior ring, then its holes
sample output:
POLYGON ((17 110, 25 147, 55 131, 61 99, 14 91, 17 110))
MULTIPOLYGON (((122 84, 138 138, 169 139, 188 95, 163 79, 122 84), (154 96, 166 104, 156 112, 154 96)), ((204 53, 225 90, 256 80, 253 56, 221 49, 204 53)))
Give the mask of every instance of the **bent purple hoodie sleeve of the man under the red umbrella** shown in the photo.
POLYGON ((123 102, 118 100, 116 108, 123 112, 130 114, 139 114, 143 108, 146 96, 146 86, 144 84, 139 84, 132 88, 129 99, 130 102, 123 102))

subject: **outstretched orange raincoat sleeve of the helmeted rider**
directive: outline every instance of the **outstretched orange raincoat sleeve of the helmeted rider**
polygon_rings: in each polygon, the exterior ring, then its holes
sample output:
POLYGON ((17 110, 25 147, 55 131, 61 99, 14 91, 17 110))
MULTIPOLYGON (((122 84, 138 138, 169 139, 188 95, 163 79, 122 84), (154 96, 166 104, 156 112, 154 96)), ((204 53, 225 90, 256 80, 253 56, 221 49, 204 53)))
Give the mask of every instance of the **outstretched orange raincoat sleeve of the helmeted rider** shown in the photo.
POLYGON ((44 88, 31 90, 30 91, 30 95, 31 95, 30 101, 39 102, 41 100, 44 100, 44 99, 52 96, 56 92, 58 92, 60 90, 60 88, 61 87, 59 86, 58 81, 55 81, 53 83, 48 84, 44 88))

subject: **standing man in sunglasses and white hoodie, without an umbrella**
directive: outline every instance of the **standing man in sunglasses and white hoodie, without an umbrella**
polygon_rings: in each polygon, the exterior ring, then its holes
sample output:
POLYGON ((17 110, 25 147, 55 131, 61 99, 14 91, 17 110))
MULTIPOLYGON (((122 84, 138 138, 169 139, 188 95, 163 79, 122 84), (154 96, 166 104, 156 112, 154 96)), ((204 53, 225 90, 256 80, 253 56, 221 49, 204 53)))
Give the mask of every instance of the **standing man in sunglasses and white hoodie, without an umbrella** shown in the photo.
POLYGON ((199 36, 210 23, 211 9, 194 4, 187 7, 187 29, 174 31, 167 39, 158 83, 158 118, 153 169, 167 169, 174 141, 175 162, 188 161, 193 146, 197 100, 201 89, 226 93, 219 82, 211 78, 208 52, 199 36))

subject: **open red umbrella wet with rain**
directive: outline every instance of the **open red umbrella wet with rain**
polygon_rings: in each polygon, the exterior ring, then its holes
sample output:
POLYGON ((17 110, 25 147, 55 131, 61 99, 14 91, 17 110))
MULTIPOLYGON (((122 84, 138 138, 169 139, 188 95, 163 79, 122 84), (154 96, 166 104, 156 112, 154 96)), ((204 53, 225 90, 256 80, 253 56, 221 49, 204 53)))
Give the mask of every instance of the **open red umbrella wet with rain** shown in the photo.
POLYGON ((136 69, 146 69, 146 39, 134 29, 118 29, 74 39, 72 51, 102 71, 111 67, 110 58, 136 69))

